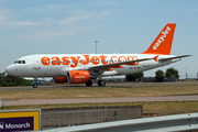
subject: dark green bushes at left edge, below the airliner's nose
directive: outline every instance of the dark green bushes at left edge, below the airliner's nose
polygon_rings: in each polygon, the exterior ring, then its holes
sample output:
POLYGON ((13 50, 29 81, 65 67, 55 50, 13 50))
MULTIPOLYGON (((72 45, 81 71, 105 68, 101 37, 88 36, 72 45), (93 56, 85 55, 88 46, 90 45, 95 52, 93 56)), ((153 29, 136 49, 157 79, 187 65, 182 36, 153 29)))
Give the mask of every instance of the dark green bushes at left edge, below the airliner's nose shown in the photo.
POLYGON ((32 86, 30 80, 0 73, 0 87, 32 86))

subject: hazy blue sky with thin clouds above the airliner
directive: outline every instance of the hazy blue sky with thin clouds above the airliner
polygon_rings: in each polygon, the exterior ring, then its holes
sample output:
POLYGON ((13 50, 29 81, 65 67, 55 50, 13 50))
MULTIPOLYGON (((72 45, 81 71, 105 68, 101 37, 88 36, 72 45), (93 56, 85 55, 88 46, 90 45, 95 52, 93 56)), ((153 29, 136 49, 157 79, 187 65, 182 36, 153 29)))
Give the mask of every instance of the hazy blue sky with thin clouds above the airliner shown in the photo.
POLYGON ((197 0, 0 0, 0 72, 16 58, 42 53, 142 53, 166 23, 177 23, 174 67, 197 77, 197 0))

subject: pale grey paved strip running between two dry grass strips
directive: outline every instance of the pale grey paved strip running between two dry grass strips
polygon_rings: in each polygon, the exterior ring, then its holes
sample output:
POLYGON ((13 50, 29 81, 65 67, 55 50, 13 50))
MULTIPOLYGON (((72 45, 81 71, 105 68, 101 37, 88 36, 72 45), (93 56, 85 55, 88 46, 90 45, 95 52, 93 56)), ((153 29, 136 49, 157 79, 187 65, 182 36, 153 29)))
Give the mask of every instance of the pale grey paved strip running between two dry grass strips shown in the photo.
POLYGON ((2 106, 28 105, 68 105, 96 102, 136 102, 136 101, 198 101, 198 96, 167 96, 167 97, 129 97, 129 98, 89 98, 89 99, 20 99, 1 100, 2 106))

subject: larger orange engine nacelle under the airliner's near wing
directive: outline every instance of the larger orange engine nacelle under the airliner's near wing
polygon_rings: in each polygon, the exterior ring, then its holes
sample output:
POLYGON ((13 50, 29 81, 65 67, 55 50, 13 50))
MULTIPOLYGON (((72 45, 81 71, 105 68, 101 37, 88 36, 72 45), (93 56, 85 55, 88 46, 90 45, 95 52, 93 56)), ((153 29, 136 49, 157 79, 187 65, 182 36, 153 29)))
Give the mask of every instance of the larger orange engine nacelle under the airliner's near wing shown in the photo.
POLYGON ((70 70, 67 73, 67 78, 70 84, 81 84, 96 79, 97 76, 91 76, 88 70, 70 70))

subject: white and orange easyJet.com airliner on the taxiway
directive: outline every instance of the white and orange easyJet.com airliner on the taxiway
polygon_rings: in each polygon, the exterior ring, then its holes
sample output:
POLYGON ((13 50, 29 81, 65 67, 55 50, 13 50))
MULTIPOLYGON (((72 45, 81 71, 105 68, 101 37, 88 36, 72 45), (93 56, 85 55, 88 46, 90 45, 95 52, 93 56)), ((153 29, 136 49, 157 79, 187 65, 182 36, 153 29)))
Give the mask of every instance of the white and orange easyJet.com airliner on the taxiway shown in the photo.
POLYGON ((53 77, 55 82, 106 86, 105 76, 130 75, 180 61, 190 55, 170 54, 176 23, 167 23, 147 51, 141 54, 36 54, 16 59, 6 72, 12 76, 53 77))

